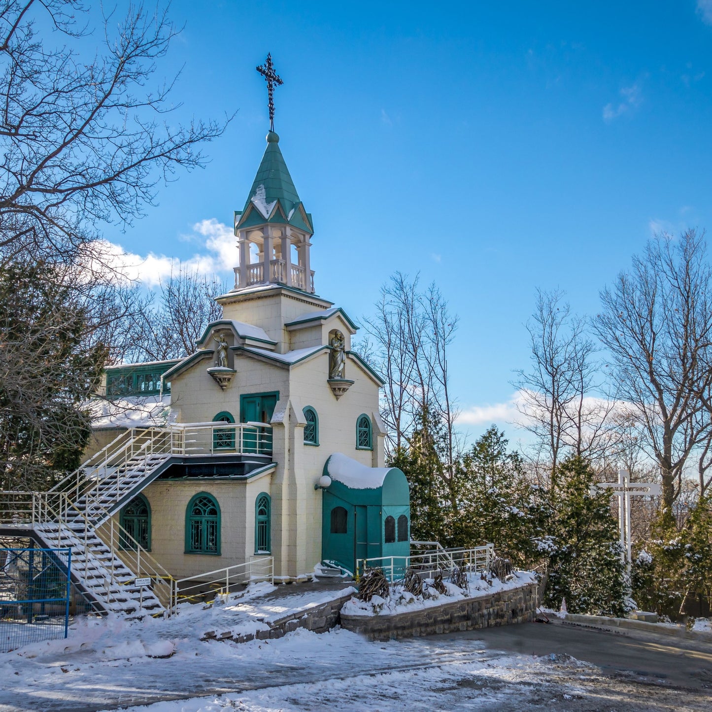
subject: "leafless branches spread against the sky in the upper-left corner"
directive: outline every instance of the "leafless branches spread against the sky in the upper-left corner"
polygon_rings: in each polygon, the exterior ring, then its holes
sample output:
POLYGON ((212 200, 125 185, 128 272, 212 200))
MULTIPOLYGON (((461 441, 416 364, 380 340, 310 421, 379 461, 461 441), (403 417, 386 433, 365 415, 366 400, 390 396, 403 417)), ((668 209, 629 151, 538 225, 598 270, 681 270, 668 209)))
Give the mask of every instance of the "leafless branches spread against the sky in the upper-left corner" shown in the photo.
POLYGON ((177 34, 164 10, 107 17, 103 51, 88 62, 74 48, 90 32, 84 13, 76 0, 0 0, 2 262, 90 251, 101 261, 98 226, 130 225, 159 181, 204 164, 199 144, 226 125, 157 120, 179 107, 174 82, 149 86, 177 34), (50 46, 55 38, 68 45, 50 46))

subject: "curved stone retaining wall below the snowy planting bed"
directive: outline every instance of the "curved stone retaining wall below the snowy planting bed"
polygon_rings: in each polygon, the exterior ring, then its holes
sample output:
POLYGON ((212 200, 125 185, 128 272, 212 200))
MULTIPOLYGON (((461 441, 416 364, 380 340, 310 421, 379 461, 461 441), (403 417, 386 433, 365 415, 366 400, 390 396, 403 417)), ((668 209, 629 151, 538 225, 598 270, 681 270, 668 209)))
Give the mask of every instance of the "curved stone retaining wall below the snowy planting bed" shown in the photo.
POLYGON ((341 614, 341 627, 370 640, 410 638, 533 621, 537 604, 537 587, 528 584, 489 596, 394 615, 341 614))

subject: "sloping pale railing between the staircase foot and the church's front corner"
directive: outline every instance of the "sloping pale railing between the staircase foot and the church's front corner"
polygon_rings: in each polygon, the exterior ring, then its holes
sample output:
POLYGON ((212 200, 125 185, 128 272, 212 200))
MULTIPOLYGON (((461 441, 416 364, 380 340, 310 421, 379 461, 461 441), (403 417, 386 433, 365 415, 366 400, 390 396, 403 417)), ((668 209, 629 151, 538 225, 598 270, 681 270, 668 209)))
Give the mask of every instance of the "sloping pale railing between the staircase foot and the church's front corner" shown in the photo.
POLYGON ((253 556, 244 564, 226 566, 196 576, 173 580, 175 604, 204 601, 207 597, 226 595, 252 581, 274 583, 274 558, 253 556))

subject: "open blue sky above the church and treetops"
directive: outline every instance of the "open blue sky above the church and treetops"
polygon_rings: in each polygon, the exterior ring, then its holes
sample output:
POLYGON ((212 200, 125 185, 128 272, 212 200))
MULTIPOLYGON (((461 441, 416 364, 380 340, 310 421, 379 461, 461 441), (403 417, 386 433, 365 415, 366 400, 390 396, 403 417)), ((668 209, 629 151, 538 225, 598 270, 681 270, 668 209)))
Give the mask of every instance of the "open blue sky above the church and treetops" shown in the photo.
POLYGON ((451 372, 473 435, 506 425, 535 288, 595 313, 653 231, 712 229, 712 0, 174 0, 172 16, 185 29, 161 71, 183 67, 180 113, 237 115, 206 169, 107 238, 152 253, 149 282, 164 257, 232 273, 221 225, 265 147, 271 51, 318 293, 360 318, 397 269, 436 281, 461 318, 451 372))

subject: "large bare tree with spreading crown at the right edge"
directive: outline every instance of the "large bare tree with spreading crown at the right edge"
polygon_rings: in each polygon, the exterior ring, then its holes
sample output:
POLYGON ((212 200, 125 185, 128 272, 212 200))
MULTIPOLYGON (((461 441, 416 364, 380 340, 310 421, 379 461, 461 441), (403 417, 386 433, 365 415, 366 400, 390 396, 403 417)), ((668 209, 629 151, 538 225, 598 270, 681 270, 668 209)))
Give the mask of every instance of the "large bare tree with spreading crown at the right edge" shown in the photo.
POLYGON ((703 237, 656 236, 632 270, 601 293, 595 330, 609 350, 618 394, 659 465, 661 506, 673 514, 690 454, 708 441, 703 399, 712 385, 712 273, 703 237))

